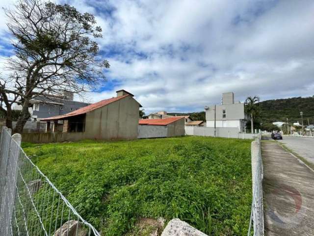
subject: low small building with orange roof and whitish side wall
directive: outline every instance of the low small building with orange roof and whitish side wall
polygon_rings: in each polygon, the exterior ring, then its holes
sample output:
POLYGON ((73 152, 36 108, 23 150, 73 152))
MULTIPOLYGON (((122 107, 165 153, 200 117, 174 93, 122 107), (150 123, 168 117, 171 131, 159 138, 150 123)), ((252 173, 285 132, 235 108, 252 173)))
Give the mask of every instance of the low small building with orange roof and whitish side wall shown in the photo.
POLYGON ((162 138, 183 136, 184 117, 141 119, 138 122, 138 138, 162 138))

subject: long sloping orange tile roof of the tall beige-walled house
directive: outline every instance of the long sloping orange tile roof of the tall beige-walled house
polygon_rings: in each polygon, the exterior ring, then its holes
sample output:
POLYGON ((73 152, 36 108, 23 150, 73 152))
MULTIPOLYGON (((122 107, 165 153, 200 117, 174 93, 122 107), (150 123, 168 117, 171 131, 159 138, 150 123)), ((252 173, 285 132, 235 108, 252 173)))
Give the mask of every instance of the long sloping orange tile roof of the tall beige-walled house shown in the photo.
POLYGON ((97 108, 100 108, 100 107, 104 107, 104 106, 106 106, 106 105, 108 105, 108 104, 110 104, 112 102, 118 101, 118 100, 120 100, 122 98, 125 98, 127 96, 130 96, 130 95, 127 94, 127 95, 123 95, 123 96, 120 96, 120 97, 113 97, 113 98, 105 99, 105 100, 93 103, 91 105, 88 105, 86 107, 79 108, 78 110, 70 112, 70 113, 67 113, 65 115, 44 118, 44 119, 41 119, 41 120, 44 120, 44 121, 45 120, 60 120, 60 119, 68 118, 68 117, 75 117, 75 116, 78 116, 78 115, 83 115, 83 114, 85 114, 87 112, 93 111, 93 110, 95 110, 97 108))

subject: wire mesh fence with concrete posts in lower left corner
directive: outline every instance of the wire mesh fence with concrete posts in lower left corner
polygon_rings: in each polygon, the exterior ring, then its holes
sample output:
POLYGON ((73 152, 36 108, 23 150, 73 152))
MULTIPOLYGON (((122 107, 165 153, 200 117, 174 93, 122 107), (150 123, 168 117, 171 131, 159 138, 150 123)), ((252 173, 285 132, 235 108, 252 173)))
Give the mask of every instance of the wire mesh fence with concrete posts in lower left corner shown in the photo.
POLYGON ((1 236, 100 236, 20 147, 21 135, 0 136, 1 236))

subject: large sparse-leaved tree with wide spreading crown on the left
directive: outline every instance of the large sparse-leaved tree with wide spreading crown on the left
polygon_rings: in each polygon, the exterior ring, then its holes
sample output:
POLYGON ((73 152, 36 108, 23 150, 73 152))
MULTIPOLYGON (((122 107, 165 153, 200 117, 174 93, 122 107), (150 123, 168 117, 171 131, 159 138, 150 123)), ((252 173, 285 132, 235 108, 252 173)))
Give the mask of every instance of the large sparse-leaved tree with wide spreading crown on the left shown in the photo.
MULTIPOLYGON (((4 10, 15 37, 15 55, 7 61, 13 85, 7 86, 2 79, 0 94, 4 102, 7 94, 13 94, 16 99, 12 101, 22 105, 15 131, 23 130, 32 98, 61 95, 64 90, 80 93, 105 81, 109 63, 98 57, 93 38, 102 37, 102 29, 93 15, 43 0, 20 0, 13 10, 4 10)), ((8 116, 8 110, 6 113, 8 116)))

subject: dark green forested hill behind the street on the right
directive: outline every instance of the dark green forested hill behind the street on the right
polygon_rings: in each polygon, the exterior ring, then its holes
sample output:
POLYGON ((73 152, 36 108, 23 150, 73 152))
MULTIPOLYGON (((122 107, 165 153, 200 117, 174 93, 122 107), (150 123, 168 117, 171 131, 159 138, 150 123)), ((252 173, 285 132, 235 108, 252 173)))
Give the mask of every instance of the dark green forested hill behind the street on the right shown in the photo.
POLYGON ((289 123, 297 121, 301 123, 300 112, 303 112, 304 125, 308 124, 308 118, 310 124, 314 123, 314 96, 266 100, 259 104, 263 123, 286 122, 287 118, 289 123))

